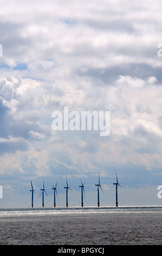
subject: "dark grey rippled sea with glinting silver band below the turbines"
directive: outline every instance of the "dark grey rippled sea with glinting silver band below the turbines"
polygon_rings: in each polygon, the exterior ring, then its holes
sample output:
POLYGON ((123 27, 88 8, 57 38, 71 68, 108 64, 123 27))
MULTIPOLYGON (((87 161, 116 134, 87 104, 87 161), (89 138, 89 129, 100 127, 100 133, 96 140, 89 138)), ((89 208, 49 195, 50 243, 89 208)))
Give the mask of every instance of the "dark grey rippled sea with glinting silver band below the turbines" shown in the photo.
POLYGON ((162 207, 0 209, 0 245, 162 245, 162 207))

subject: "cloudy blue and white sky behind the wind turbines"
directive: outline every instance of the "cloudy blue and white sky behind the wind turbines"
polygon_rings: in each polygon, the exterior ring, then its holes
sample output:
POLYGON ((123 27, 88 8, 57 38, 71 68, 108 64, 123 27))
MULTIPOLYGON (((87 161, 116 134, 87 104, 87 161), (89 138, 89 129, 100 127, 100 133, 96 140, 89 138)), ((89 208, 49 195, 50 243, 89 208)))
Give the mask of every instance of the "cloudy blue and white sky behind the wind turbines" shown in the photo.
MULTIPOLYGON (((0 0, 0 207, 161 205, 159 0, 0 0), (109 111, 109 136, 52 129, 54 111, 109 111)), ((162 45, 161 45, 162 46, 162 45)))

